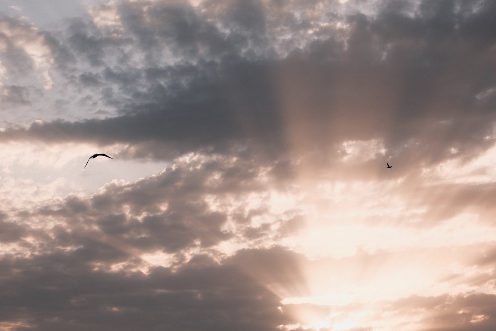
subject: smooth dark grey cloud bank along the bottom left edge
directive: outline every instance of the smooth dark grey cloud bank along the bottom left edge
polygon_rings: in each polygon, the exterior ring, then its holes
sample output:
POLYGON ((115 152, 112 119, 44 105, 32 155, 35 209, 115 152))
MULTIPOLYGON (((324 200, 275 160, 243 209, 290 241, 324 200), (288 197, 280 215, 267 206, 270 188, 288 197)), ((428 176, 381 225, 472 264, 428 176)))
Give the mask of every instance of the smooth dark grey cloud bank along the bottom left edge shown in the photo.
MULTIPOLYGON (((157 267, 148 275, 93 270, 87 263, 118 255, 91 245, 72 253, 3 257, 6 274, 21 271, 1 284, 1 320, 22 320, 31 330, 277 330, 294 322, 277 309, 280 298, 240 271, 243 254, 221 265, 197 256, 175 272, 157 267)), ((271 265, 259 269, 275 271, 271 265)))

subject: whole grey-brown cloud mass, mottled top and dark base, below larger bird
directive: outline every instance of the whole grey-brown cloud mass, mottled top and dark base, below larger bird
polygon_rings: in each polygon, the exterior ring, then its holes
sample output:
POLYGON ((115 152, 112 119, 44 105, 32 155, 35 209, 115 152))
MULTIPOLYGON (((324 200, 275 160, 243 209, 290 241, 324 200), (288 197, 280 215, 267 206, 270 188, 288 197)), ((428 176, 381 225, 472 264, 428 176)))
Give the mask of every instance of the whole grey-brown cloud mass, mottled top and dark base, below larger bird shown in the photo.
POLYGON ((230 176, 255 182, 257 174, 222 158, 197 165, 5 214, 15 223, 2 221, 2 243, 32 237, 40 221, 45 236, 36 237, 31 255, 0 258, 0 320, 32 330, 277 330, 294 323, 267 286, 299 286, 301 256, 276 247, 213 259, 211 247, 232 234, 221 229, 229 212, 211 211, 206 195, 236 196, 247 188, 230 176), (219 180, 210 180, 211 168, 219 180), (187 257, 190 249, 205 253, 187 257), (171 266, 140 258, 157 250, 173 254, 171 266))

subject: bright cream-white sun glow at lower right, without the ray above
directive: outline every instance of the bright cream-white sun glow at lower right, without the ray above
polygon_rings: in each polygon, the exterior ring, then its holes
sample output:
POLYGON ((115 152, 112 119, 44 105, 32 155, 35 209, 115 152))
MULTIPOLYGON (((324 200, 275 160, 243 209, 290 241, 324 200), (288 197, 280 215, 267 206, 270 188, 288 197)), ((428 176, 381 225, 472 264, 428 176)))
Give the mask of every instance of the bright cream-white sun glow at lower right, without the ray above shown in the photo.
MULTIPOLYGON (((377 146, 381 154, 380 144, 377 146)), ((355 155, 353 148, 348 148, 350 157, 355 155)), ((487 158, 492 159, 493 152, 488 154, 491 157, 487 158)), ((435 176, 434 168, 426 169, 424 174, 426 171, 435 176)), ((449 181, 454 172, 450 169, 442 177, 449 181)), ((471 182, 469 177, 473 174, 467 174, 471 182)), ((309 177, 302 174, 298 178, 309 177)), ((395 300, 435 298, 445 293, 464 295, 470 291, 493 293, 491 283, 475 286, 440 280, 453 273, 478 277, 480 268, 468 272, 459 266, 477 259, 480 251, 475 247, 491 247, 494 227, 481 222, 480 213, 469 208, 446 214, 442 219, 442 210, 433 214, 429 207, 412 203, 416 197, 409 195, 410 187, 404 188, 403 195, 397 195, 402 183, 320 180, 295 185, 293 194, 297 192, 300 199, 294 201, 298 201, 304 222, 280 243, 308 259, 299 266, 304 279, 300 288, 305 291, 295 293, 284 284, 280 286, 277 294, 282 298, 282 310, 290 311, 298 323, 279 329, 418 330, 424 326, 426 311, 419 309, 410 317, 402 316, 390 308, 395 300), (385 194, 387 199, 383 198, 385 194), (430 225, 423 225, 430 218, 430 225)), ((444 198, 450 199, 449 193, 444 198)), ((289 205, 280 206, 282 211, 289 205)), ((470 322, 480 323, 486 318, 474 315, 470 322)))

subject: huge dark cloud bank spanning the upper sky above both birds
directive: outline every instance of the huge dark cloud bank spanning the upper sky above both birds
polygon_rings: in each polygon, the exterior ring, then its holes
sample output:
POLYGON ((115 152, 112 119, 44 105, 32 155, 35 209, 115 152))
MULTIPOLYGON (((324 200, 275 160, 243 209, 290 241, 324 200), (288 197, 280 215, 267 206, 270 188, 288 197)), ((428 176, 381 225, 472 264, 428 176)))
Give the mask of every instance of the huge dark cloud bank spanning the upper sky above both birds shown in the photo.
POLYGON ((122 3, 121 33, 129 37, 117 41, 73 25, 66 47, 101 67, 79 81, 107 86, 104 104, 122 115, 36 123, 1 138, 124 142, 136 155, 147 149, 159 158, 249 141, 271 151, 332 154, 342 141, 384 139, 391 156, 417 166, 472 158, 493 144, 494 102, 482 97, 496 86, 492 43, 475 38, 492 24, 484 9, 490 4, 423 3, 411 16, 391 2, 376 17, 340 17, 346 38, 336 32, 286 58, 271 51, 250 58, 244 45, 263 44, 277 11, 241 2, 205 2, 204 16, 183 5, 122 3), (141 67, 132 66, 132 45, 148 59, 141 67), (164 48, 181 60, 159 61, 164 48), (154 142, 174 152, 163 155, 154 142))

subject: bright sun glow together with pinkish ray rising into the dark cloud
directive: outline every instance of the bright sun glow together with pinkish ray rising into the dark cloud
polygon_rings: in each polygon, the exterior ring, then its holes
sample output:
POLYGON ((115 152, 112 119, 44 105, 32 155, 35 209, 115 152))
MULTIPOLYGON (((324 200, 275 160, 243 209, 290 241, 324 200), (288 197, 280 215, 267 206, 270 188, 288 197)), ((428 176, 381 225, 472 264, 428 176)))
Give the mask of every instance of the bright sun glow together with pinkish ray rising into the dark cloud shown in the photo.
MULTIPOLYGON (((318 84, 316 76, 312 78, 317 81, 311 81, 297 66, 274 70, 286 142, 298 162, 292 191, 270 194, 270 210, 276 215, 298 208, 303 224, 276 244, 308 259, 298 267, 302 284, 271 287, 281 298, 281 310, 298 321, 279 328, 391 331, 405 323, 408 327, 403 330, 421 328, 422 310, 399 316, 388 311, 386 303, 414 295, 435 297, 474 290, 440 280, 452 274, 457 265, 473 261, 478 252, 471 248, 491 243, 496 230, 490 223, 478 222, 479 214, 473 210, 436 222, 441 215, 430 215, 430 206, 413 203, 414 187, 427 194, 429 183, 491 182, 496 178, 491 166, 496 147, 471 162, 453 159, 419 169, 411 187, 405 184, 411 180, 408 173, 381 178, 384 175, 380 172, 388 171, 385 162, 390 153, 384 142, 377 138, 336 140, 346 128, 339 127, 340 119, 333 121, 333 112, 324 109, 347 105, 329 105, 325 96, 312 95, 307 84, 318 84), (315 102, 318 97, 323 100, 320 104, 315 102), (325 148, 319 149, 322 146, 328 147, 329 154, 325 148), (430 226, 420 226, 428 217, 434 218, 430 226)), ((459 154, 456 147, 448 151, 454 157, 459 154)), ((449 201, 452 196, 445 198, 449 201)), ((274 283, 274 279, 259 280, 274 283)), ((477 315, 471 322, 484 318, 477 315)))

